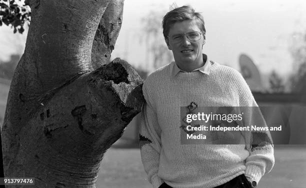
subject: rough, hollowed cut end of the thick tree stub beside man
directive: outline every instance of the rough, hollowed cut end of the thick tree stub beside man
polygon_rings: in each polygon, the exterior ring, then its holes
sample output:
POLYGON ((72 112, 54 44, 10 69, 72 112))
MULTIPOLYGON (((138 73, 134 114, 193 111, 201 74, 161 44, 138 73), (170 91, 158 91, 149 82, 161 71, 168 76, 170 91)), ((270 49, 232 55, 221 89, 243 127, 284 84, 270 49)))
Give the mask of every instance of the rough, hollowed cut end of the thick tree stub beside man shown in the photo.
POLYGON ((141 109, 143 102, 142 82, 137 72, 124 60, 112 62, 92 71, 89 85, 110 90, 121 102, 121 119, 129 122, 141 109))

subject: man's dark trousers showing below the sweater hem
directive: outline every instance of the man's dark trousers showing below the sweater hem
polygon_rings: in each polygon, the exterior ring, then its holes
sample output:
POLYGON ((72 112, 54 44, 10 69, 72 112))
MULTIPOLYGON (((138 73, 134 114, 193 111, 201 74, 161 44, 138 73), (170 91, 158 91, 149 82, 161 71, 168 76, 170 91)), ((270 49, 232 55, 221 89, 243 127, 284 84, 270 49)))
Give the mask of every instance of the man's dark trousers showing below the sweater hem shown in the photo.
MULTIPOLYGON (((170 185, 166 183, 162 183, 159 188, 173 188, 170 185)), ((244 174, 241 174, 230 181, 221 184, 219 186, 216 186, 214 188, 251 188, 250 182, 247 181, 244 174)))

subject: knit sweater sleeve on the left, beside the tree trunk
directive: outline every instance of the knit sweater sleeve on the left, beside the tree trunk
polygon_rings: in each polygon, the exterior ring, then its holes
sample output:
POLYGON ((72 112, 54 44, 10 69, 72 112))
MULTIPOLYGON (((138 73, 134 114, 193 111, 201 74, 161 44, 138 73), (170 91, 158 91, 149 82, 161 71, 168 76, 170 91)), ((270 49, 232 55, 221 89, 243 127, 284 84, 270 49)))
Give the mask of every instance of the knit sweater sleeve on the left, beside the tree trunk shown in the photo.
POLYGON ((146 84, 142 87, 145 102, 143 103, 140 118, 140 154, 148 181, 154 188, 160 186, 163 180, 157 175, 160 156, 160 128, 157 122, 156 112, 154 111, 148 97, 146 84))

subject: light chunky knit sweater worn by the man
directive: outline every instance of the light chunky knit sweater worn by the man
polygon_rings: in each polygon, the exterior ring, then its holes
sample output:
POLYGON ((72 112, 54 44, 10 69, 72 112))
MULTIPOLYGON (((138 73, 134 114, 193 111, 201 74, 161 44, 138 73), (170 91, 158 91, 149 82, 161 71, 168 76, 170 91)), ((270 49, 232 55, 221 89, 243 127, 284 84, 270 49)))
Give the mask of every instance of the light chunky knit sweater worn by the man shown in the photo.
POLYGON ((257 106, 252 93, 233 68, 213 61, 209 73, 172 74, 174 61, 144 81, 140 153, 153 187, 209 188, 245 174, 259 181, 274 164, 272 144, 181 144, 180 106, 257 106))

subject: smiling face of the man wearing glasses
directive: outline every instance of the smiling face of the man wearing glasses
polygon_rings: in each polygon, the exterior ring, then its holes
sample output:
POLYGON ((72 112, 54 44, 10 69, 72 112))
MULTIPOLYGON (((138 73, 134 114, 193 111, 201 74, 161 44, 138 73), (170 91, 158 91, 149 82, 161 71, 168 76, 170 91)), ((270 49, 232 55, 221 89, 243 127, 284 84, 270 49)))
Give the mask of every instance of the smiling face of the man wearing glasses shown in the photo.
POLYGON ((186 35, 184 35, 180 42, 175 42, 172 37, 193 31, 201 32, 194 19, 175 22, 169 29, 169 38, 166 39, 167 46, 172 50, 174 60, 178 67, 186 71, 191 71, 203 65, 203 35, 201 34, 200 39, 197 41, 190 41, 186 35))

